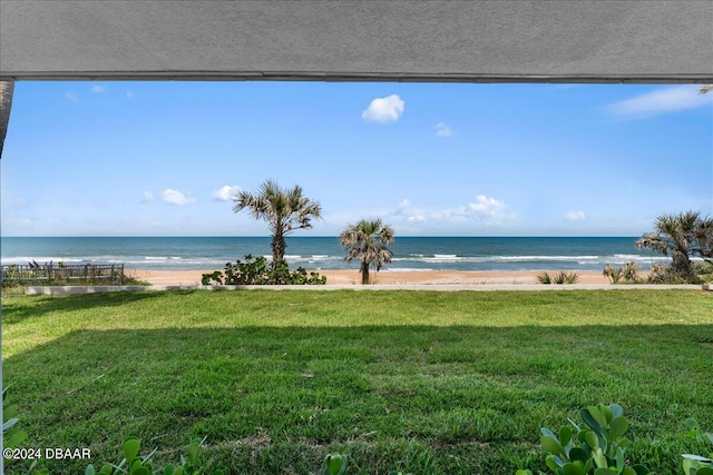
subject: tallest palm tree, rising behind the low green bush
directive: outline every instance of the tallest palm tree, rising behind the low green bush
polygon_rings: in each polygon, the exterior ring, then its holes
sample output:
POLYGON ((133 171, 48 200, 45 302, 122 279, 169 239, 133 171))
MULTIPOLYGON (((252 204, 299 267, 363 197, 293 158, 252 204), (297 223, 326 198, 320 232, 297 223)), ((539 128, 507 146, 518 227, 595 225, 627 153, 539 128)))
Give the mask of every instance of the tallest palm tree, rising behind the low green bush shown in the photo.
POLYGON ((310 229, 312 218, 322 218, 319 202, 302 196, 297 185, 292 189, 282 189, 274 180, 266 180, 260 186, 257 195, 240 191, 233 197, 233 211, 247 208, 250 216, 267 221, 272 232, 272 268, 277 268, 285 260, 285 236, 296 229, 310 229))

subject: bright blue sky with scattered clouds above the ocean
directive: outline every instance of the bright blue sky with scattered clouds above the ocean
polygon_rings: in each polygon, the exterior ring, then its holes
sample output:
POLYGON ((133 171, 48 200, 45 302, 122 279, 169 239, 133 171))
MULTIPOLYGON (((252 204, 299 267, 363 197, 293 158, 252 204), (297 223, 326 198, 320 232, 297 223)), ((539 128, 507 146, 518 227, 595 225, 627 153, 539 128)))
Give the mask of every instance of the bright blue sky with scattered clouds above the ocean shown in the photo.
POLYGON ((304 236, 638 236, 713 214, 713 93, 693 85, 18 82, 3 236, 266 236, 267 178, 304 236))

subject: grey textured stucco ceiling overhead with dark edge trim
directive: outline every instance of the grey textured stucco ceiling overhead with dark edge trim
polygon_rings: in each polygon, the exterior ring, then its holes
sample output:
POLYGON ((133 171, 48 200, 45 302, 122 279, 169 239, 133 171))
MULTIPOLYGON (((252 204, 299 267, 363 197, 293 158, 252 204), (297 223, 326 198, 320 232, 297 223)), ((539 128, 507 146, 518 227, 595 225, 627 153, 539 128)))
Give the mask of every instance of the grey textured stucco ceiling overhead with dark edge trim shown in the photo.
POLYGON ((710 82, 713 1, 0 1, 0 79, 710 82))

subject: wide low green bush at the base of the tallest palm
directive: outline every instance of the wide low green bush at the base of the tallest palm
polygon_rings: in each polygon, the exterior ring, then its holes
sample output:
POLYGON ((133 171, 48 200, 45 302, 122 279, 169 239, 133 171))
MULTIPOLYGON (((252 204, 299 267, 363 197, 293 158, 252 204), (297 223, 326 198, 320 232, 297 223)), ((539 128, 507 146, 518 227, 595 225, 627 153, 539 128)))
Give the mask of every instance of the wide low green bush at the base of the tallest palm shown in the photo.
POLYGON ((263 256, 245 256, 245 261, 237 259, 235 264, 225 264, 225 270, 204 274, 203 285, 324 285, 326 277, 319 273, 307 271, 299 267, 290 270, 287 263, 281 261, 275 268, 267 265, 263 256))

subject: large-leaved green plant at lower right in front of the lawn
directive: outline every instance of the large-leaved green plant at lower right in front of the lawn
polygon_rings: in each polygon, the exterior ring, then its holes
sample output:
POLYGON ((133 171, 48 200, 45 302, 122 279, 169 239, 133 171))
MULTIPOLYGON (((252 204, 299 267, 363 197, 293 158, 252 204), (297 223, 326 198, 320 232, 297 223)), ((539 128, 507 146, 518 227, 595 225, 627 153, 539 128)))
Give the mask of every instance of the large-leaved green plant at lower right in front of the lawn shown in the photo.
MULTIPOLYGON (((583 424, 569 420, 558 434, 543 427, 540 444, 548 453, 547 467, 556 475, 646 475, 643 465, 627 466, 628 439, 623 438, 628 419, 618 404, 597 404, 579 412, 583 424)), ((516 475, 533 475, 517 471, 516 475)))

